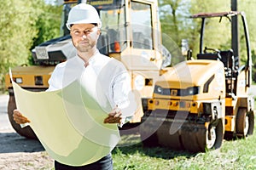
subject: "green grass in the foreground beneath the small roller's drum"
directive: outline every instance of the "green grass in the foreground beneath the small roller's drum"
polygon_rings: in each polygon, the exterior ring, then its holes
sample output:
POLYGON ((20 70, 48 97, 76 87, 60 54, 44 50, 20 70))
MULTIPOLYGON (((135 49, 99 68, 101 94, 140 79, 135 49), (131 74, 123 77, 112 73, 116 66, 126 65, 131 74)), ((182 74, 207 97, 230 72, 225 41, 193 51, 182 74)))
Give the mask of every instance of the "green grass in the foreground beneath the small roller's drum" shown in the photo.
POLYGON ((247 139, 225 141, 220 150, 192 154, 163 147, 143 148, 134 137, 130 146, 113 150, 115 170, 256 169, 256 134, 247 139))

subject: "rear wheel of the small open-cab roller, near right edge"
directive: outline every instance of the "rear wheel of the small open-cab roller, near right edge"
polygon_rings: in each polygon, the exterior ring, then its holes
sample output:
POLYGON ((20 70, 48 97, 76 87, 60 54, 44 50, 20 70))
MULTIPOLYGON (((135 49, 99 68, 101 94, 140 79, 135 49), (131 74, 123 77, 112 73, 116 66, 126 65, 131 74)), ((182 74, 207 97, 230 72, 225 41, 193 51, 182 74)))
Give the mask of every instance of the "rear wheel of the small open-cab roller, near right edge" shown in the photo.
POLYGON ((236 115, 236 136, 245 138, 253 134, 254 115, 253 112, 247 112, 246 108, 240 108, 236 115))

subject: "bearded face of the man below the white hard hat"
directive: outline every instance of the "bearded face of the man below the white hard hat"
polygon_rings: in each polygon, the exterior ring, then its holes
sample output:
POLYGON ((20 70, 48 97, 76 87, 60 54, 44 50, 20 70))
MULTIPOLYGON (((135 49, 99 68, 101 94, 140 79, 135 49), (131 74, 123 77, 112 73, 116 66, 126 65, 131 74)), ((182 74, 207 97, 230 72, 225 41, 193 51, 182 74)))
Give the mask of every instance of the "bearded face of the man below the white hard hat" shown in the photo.
POLYGON ((93 24, 74 24, 70 34, 73 45, 79 52, 90 52, 90 49, 96 47, 100 30, 93 24))

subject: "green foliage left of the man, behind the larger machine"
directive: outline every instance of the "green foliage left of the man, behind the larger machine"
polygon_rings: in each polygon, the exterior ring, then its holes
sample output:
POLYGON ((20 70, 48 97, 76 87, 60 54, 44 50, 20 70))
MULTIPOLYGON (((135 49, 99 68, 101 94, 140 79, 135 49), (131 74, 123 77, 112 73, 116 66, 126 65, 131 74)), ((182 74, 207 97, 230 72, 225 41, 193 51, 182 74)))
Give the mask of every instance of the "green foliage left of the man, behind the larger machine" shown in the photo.
POLYGON ((9 67, 28 64, 31 49, 59 36, 61 8, 44 0, 2 0, 0 3, 0 91, 9 67), (57 10, 56 10, 57 9, 57 10))

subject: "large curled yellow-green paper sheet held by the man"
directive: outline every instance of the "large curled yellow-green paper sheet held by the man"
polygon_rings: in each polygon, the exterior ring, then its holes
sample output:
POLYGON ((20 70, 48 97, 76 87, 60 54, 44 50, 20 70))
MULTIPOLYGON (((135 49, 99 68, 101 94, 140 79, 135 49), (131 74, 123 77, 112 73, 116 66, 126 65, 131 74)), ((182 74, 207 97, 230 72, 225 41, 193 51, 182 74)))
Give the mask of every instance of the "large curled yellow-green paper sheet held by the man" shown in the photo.
POLYGON ((101 159, 119 142, 116 124, 79 81, 52 92, 31 92, 13 82, 17 109, 56 161, 81 166, 101 159))

